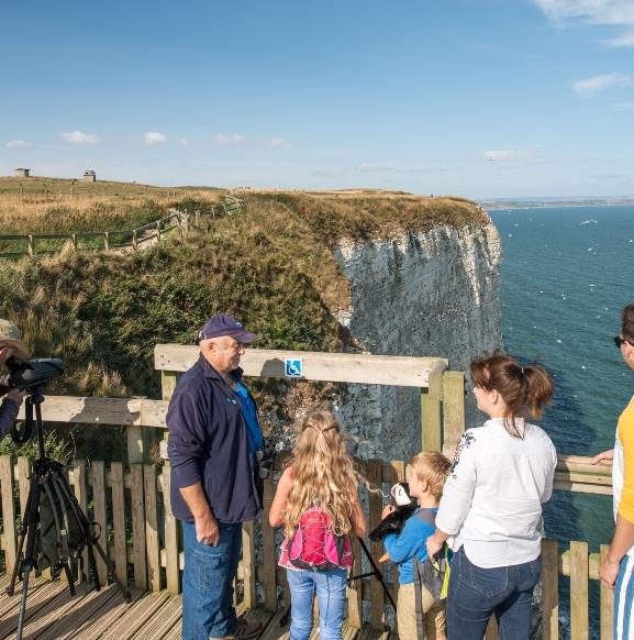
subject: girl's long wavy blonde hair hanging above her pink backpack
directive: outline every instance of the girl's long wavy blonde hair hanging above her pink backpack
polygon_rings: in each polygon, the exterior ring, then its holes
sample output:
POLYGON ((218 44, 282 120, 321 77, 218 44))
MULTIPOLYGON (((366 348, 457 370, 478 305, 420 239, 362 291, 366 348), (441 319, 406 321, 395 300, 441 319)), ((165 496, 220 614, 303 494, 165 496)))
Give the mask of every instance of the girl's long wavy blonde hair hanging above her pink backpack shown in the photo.
POLYGON ((292 536, 301 515, 312 506, 327 512, 336 536, 349 533, 351 498, 358 482, 340 424, 330 411, 315 410, 305 417, 288 466, 292 466, 293 481, 285 536, 292 536))

